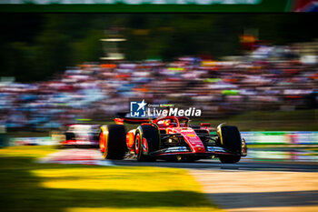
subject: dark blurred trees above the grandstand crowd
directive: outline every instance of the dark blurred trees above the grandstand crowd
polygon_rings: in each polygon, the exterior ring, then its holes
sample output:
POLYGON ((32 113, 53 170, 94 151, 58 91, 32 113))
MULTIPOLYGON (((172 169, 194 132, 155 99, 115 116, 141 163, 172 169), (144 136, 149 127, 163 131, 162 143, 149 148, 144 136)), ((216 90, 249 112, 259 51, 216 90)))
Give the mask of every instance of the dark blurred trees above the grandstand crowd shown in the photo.
POLYGON ((2 14, 0 76, 43 80, 65 66, 98 61, 105 30, 120 27, 128 60, 242 54, 239 35, 256 28, 274 45, 318 37, 314 14, 2 14))

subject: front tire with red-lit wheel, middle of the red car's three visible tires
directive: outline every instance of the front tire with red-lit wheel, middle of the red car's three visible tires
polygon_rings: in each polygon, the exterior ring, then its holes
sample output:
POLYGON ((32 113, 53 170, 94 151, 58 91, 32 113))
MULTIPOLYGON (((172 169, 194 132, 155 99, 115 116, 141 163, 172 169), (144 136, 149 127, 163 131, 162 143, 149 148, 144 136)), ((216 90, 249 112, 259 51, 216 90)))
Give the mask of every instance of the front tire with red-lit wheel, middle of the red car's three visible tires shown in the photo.
POLYGON ((160 135, 155 126, 138 126, 134 137, 135 154, 138 161, 154 161, 154 156, 150 153, 159 150, 160 135), (144 139, 145 138, 145 139, 144 139))

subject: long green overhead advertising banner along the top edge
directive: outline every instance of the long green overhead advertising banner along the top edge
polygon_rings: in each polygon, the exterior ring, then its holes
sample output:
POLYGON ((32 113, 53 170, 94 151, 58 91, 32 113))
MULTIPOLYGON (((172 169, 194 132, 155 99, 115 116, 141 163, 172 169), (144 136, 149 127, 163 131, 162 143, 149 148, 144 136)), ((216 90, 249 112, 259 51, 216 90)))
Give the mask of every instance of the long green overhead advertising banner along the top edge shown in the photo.
POLYGON ((288 12, 293 0, 1 0, 0 12, 288 12))

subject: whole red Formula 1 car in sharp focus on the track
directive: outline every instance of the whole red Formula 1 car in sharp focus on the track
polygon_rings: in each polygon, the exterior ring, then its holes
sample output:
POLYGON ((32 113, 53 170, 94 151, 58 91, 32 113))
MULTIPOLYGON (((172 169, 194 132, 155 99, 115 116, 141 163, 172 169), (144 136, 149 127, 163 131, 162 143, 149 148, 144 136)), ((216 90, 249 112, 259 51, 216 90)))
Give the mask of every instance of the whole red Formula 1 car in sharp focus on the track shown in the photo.
POLYGON ((150 119, 115 118, 116 125, 101 126, 99 146, 106 159, 135 156, 138 161, 194 161, 219 157, 222 163, 236 163, 247 155, 245 141, 236 126, 210 124, 189 126, 189 118, 165 116, 150 119), (140 124, 125 132, 124 123, 140 124))

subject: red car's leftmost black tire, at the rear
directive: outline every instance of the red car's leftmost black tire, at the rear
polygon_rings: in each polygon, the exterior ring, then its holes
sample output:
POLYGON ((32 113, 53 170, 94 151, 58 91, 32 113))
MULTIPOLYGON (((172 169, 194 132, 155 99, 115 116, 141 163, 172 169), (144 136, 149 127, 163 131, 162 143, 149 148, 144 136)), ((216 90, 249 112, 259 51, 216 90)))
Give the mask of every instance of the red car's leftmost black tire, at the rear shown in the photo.
POLYGON ((107 131, 104 136, 104 158, 123 159, 127 151, 124 126, 109 125, 104 126, 104 130, 107 131))

